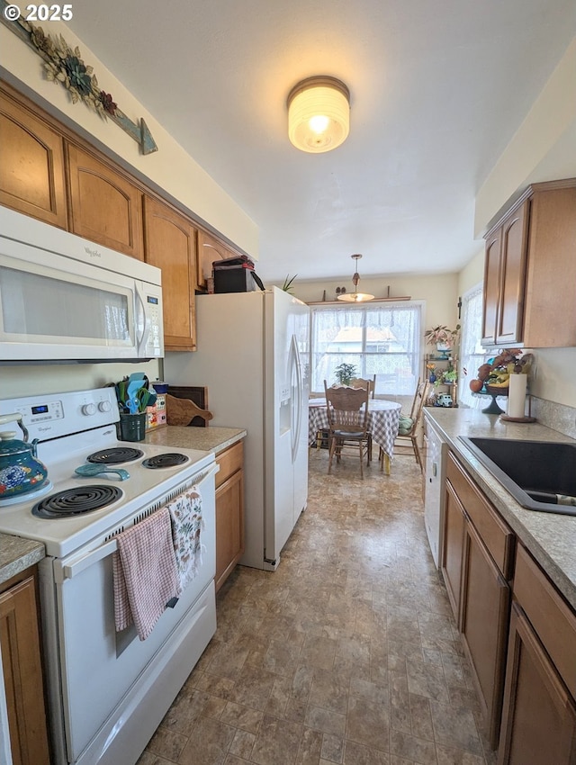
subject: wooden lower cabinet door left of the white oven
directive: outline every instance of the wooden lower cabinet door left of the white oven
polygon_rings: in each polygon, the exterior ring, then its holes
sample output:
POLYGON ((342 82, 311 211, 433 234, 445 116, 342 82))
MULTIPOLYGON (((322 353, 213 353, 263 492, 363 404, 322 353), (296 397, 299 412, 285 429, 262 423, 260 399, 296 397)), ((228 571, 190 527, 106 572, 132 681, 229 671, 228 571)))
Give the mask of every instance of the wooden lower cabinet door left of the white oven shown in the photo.
POLYGON ((0 644, 14 765, 49 765, 33 577, 0 595, 0 644))

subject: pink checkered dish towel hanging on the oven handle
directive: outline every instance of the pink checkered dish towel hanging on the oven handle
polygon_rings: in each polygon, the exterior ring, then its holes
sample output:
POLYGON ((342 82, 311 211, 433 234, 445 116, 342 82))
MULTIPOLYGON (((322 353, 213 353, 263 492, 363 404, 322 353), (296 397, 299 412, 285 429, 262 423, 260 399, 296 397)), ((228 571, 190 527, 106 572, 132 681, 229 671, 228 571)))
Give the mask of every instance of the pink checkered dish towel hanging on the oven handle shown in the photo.
POLYGON ((118 551, 112 556, 114 618, 116 630, 136 627, 140 640, 148 635, 180 594, 170 513, 157 510, 116 536, 118 551))

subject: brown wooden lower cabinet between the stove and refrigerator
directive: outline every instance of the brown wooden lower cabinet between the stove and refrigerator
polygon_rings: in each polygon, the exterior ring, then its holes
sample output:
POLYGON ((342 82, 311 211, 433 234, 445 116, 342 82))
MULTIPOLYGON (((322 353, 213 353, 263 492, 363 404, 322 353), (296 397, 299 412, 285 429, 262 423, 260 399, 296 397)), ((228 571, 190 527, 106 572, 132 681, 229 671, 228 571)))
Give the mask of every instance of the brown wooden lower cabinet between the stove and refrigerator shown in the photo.
POLYGON ((216 455, 216 591, 244 553, 244 445, 216 455))

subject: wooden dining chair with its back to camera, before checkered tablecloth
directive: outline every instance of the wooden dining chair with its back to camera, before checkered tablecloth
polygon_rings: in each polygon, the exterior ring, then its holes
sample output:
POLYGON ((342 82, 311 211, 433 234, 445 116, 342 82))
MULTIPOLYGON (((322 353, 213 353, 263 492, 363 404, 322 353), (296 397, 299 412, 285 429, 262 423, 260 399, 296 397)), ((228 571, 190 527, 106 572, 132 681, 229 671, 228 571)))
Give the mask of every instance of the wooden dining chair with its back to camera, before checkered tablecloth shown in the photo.
POLYGON ((354 449, 360 457, 360 477, 364 478, 364 458, 370 462, 368 441, 368 401, 370 387, 329 388, 324 381, 326 406, 329 422, 329 464, 332 472, 332 459, 337 462, 345 449, 354 449))

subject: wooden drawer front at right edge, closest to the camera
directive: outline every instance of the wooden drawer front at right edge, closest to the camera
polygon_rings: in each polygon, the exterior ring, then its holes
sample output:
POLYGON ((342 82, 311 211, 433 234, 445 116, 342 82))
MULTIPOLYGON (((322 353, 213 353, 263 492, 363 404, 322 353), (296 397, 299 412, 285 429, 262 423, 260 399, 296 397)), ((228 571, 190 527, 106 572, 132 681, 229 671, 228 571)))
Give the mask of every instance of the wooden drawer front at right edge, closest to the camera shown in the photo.
POLYGON ((516 554, 512 589, 572 697, 576 698, 576 615, 521 545, 516 554))

